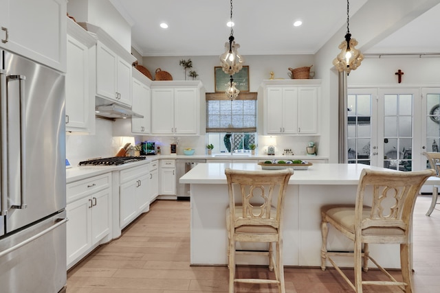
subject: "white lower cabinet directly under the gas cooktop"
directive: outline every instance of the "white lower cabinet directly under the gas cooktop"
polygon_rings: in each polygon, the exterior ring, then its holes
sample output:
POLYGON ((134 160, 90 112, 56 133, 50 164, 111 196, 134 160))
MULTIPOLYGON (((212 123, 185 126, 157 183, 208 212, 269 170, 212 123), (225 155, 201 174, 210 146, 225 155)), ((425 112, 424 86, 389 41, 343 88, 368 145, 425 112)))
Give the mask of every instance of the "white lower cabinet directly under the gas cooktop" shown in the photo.
POLYGON ((130 224, 138 215, 148 211, 148 164, 120 172, 120 228, 130 224))

